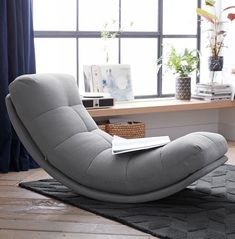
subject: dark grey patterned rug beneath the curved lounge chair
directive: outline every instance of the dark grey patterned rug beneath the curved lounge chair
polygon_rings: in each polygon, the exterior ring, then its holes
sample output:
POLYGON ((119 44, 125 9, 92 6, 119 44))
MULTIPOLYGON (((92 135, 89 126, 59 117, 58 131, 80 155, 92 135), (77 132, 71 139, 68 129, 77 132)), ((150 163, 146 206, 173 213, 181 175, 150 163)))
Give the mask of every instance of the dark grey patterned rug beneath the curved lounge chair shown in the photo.
POLYGON ((235 166, 224 164, 161 200, 118 204, 86 198, 46 179, 20 187, 118 221, 159 238, 235 239, 235 166))

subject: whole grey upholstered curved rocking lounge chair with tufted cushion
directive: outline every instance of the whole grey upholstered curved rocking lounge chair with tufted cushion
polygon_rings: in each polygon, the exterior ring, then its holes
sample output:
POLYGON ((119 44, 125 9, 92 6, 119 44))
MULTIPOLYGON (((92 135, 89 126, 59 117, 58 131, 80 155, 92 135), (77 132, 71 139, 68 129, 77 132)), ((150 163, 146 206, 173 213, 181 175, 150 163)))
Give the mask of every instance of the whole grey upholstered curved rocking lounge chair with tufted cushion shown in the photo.
POLYGON ((226 140, 209 132, 188 134, 161 148, 112 155, 112 137, 98 129, 69 75, 23 75, 9 92, 9 116, 30 154, 58 181, 89 197, 159 199, 227 160, 226 140))

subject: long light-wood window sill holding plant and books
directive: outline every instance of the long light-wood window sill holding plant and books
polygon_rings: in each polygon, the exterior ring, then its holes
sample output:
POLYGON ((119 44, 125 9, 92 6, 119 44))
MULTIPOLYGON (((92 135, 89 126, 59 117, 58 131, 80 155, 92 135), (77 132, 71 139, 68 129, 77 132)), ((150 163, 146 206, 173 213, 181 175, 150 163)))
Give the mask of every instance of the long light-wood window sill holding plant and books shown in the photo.
POLYGON ((177 112, 204 109, 235 108, 235 101, 180 101, 175 99, 134 100, 131 102, 116 103, 109 108, 89 109, 92 117, 110 117, 157 112, 177 112))

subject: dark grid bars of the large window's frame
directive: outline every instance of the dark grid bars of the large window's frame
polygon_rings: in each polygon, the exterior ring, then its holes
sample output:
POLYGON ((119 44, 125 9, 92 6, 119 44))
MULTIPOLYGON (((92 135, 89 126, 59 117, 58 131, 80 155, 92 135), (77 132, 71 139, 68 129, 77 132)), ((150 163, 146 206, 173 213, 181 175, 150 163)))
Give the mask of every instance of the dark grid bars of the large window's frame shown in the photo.
MULTIPOLYGON (((163 1, 158 0, 158 30, 157 32, 144 32, 144 31, 121 31, 117 35, 118 38, 118 64, 121 63, 121 39, 122 38, 155 38, 157 39, 157 57, 160 58, 162 55, 162 43, 163 39, 166 38, 195 38, 197 50, 201 49, 201 27, 200 27, 200 17, 197 16, 197 30, 196 34, 163 34, 163 1)), ((121 3, 119 0, 119 19, 118 24, 121 28, 121 3)), ((201 7, 201 0, 197 0, 197 7, 201 7)), ((76 40, 76 80, 79 86, 79 39, 80 38, 100 38, 101 31, 80 31, 79 30, 79 0, 76 0, 76 29, 74 31, 34 31, 34 38, 73 38, 76 40)), ((198 64, 200 68, 200 63, 198 64)), ((196 82, 199 82, 197 77, 196 82)), ((156 95, 137 95, 135 99, 148 99, 148 98, 164 98, 173 97, 174 94, 163 94, 162 93, 162 68, 159 69, 156 78, 156 95)))

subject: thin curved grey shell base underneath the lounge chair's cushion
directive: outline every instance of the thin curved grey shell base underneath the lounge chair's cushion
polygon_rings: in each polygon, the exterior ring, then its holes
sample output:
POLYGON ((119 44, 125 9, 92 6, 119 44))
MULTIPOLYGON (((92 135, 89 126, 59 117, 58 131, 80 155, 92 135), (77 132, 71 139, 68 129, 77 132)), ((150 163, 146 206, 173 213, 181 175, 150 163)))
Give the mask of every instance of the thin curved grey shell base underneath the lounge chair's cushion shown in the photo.
POLYGON ((115 193, 107 193, 98 190, 94 190, 88 187, 84 187, 79 183, 75 182, 73 179, 67 177, 63 174, 63 172, 59 171, 55 167, 53 167, 44 157, 43 154, 38 149, 37 145, 31 138, 30 134, 22 124, 21 120, 19 119, 15 108, 12 104, 11 98, 8 95, 6 98, 6 104, 9 112, 9 116, 11 118, 11 122, 17 132, 18 135, 21 135, 21 141, 31 154, 31 156, 35 159, 35 161, 52 177, 57 179, 59 182, 64 184, 65 186, 69 187, 70 189, 74 190, 76 193, 95 198, 102 201, 112 201, 112 202, 119 202, 119 203, 137 203, 137 202, 146 202, 146 201, 153 201, 156 199, 164 198, 169 196, 173 193, 176 193, 183 188, 187 187, 200 177, 206 175, 213 169, 217 168, 218 166, 222 165, 227 161, 227 157, 223 156, 218 160, 214 161, 211 164, 203 167, 202 169, 194 172, 193 174, 189 175, 188 177, 184 178, 181 181, 176 182, 166 188, 162 188, 157 191, 153 191, 150 193, 145 194, 138 194, 138 195, 120 195, 115 193))

